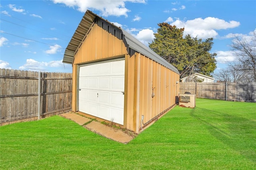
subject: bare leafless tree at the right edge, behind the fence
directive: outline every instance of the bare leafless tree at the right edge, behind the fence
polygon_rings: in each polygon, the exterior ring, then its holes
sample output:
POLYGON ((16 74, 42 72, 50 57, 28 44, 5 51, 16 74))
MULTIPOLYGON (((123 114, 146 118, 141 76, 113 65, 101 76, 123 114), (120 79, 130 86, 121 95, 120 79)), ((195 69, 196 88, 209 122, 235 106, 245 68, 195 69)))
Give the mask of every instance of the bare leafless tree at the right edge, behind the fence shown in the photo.
POLYGON ((237 57, 237 62, 230 64, 236 70, 251 78, 249 82, 256 82, 256 31, 247 39, 236 36, 231 45, 237 57))

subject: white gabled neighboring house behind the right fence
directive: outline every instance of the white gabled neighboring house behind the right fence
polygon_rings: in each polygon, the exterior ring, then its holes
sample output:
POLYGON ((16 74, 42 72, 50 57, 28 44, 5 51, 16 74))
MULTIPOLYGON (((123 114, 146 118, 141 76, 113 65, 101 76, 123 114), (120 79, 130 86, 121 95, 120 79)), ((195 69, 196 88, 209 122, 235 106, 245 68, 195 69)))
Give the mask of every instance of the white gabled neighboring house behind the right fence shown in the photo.
POLYGON ((213 83, 214 80, 215 78, 205 76, 199 73, 191 74, 190 76, 186 76, 180 79, 181 82, 204 82, 204 83, 213 83))

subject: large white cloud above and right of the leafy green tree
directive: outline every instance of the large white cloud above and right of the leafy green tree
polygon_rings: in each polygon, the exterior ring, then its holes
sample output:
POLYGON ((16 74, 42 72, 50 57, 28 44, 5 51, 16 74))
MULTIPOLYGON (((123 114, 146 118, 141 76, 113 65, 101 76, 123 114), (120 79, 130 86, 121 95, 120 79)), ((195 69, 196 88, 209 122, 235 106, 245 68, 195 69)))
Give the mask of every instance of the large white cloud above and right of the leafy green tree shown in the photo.
POLYGON ((207 17, 205 19, 196 18, 188 21, 181 21, 177 19, 170 23, 170 25, 176 25, 178 28, 184 27, 184 35, 190 34, 192 37, 197 36, 198 38, 206 39, 216 37, 218 35, 216 30, 238 27, 240 22, 227 22, 218 18, 207 17))

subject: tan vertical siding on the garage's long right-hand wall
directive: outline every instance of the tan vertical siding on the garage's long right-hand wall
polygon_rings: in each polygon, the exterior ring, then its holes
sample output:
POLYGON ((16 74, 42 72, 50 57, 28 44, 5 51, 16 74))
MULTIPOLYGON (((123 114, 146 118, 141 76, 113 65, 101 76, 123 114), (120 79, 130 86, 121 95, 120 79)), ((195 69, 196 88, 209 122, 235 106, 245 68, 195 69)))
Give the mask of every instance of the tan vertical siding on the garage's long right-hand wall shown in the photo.
POLYGON ((138 133, 142 115, 143 123, 146 124, 175 104, 179 75, 152 59, 135 53, 128 58, 127 77, 126 127, 138 133))

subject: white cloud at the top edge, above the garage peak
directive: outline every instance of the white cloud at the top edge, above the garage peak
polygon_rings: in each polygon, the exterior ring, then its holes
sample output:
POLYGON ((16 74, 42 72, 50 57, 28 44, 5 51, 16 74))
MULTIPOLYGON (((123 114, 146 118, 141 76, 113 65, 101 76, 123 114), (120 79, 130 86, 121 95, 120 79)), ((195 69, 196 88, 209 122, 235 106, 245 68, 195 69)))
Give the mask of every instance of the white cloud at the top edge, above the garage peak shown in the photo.
POLYGON ((53 0, 55 4, 62 3, 68 7, 76 8, 80 12, 98 10, 102 16, 128 16, 130 12, 125 8, 125 2, 146 3, 146 0, 53 0))

